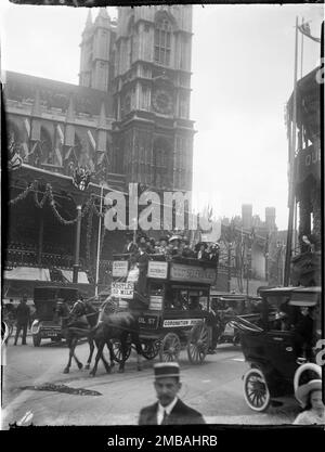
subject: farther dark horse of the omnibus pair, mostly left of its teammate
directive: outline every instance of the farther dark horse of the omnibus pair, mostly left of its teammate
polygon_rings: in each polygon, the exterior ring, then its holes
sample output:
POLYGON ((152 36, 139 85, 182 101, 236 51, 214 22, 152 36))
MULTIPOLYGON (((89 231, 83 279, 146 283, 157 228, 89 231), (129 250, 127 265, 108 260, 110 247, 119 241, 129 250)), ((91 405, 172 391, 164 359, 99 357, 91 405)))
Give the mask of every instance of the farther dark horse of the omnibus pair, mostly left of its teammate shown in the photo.
MULTIPOLYGON (((72 310, 66 302, 58 301, 55 314, 61 319, 62 335, 65 337, 69 348, 68 363, 63 372, 65 374, 69 373, 73 358, 75 359, 78 369, 82 369, 82 363, 75 353, 78 340, 81 338, 87 338, 89 344, 89 357, 86 364, 86 369, 89 369, 94 351, 94 335, 100 312, 87 301, 83 302, 78 300, 75 302, 72 310)), ((109 350, 110 366, 103 356, 101 358, 106 372, 109 373, 110 369, 114 366, 114 353, 112 343, 107 341, 106 345, 109 350)))

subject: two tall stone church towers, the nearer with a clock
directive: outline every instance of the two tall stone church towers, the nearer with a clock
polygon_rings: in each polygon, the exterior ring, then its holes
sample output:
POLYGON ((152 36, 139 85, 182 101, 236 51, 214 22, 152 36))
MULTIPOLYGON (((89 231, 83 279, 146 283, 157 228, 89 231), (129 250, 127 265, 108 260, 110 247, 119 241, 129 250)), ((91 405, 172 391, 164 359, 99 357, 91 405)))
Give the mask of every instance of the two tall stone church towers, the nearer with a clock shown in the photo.
POLYGON ((112 98, 112 172, 126 184, 192 190, 192 5, 89 12, 79 85, 112 98))

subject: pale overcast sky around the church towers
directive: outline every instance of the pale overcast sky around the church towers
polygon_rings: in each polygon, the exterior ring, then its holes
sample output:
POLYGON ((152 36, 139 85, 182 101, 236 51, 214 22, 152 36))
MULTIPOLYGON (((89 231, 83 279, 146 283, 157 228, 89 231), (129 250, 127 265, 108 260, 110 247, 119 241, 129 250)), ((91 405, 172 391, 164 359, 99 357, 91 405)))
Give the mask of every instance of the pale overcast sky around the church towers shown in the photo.
MULTIPOLYGON (((86 8, 2 0, 1 69, 78 83, 87 15, 86 8)), ((240 215, 242 204, 252 204, 263 221, 273 206, 278 229, 287 229, 284 112, 294 88, 296 16, 321 36, 320 4, 193 5, 193 192, 217 217, 240 215)), ((300 47, 299 34, 299 78, 300 47)), ((318 63, 320 44, 304 38, 302 76, 318 63)))

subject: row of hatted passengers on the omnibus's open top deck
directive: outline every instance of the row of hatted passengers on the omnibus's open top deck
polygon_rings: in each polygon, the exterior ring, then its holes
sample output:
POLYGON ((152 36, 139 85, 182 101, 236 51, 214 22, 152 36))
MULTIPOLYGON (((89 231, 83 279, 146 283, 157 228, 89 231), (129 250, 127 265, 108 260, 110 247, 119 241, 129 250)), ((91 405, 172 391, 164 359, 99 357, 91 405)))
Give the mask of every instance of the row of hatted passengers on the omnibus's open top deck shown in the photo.
POLYGON ((148 255, 164 255, 167 260, 182 257, 218 263, 220 246, 218 243, 208 245, 205 242, 191 246, 188 238, 181 235, 162 235, 158 241, 141 235, 134 240, 133 234, 128 233, 123 253, 135 255, 140 250, 148 255))

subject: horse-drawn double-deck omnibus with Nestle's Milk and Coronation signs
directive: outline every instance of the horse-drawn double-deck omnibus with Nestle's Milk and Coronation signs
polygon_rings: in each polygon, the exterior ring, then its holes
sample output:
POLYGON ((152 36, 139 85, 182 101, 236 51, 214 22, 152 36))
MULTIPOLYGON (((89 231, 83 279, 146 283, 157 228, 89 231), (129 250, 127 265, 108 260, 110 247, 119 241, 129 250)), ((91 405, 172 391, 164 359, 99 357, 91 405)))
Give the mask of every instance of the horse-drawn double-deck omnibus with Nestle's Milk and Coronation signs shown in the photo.
MULTIPOLYGON (((146 359, 159 354, 161 361, 176 361, 185 346, 191 363, 204 361, 210 341, 210 287, 216 277, 216 262, 150 255, 141 272, 130 255, 114 256, 112 295, 119 299, 119 309, 132 309, 136 297, 147 306, 139 317, 146 359)), ((117 344, 115 354, 118 359, 117 344)))

